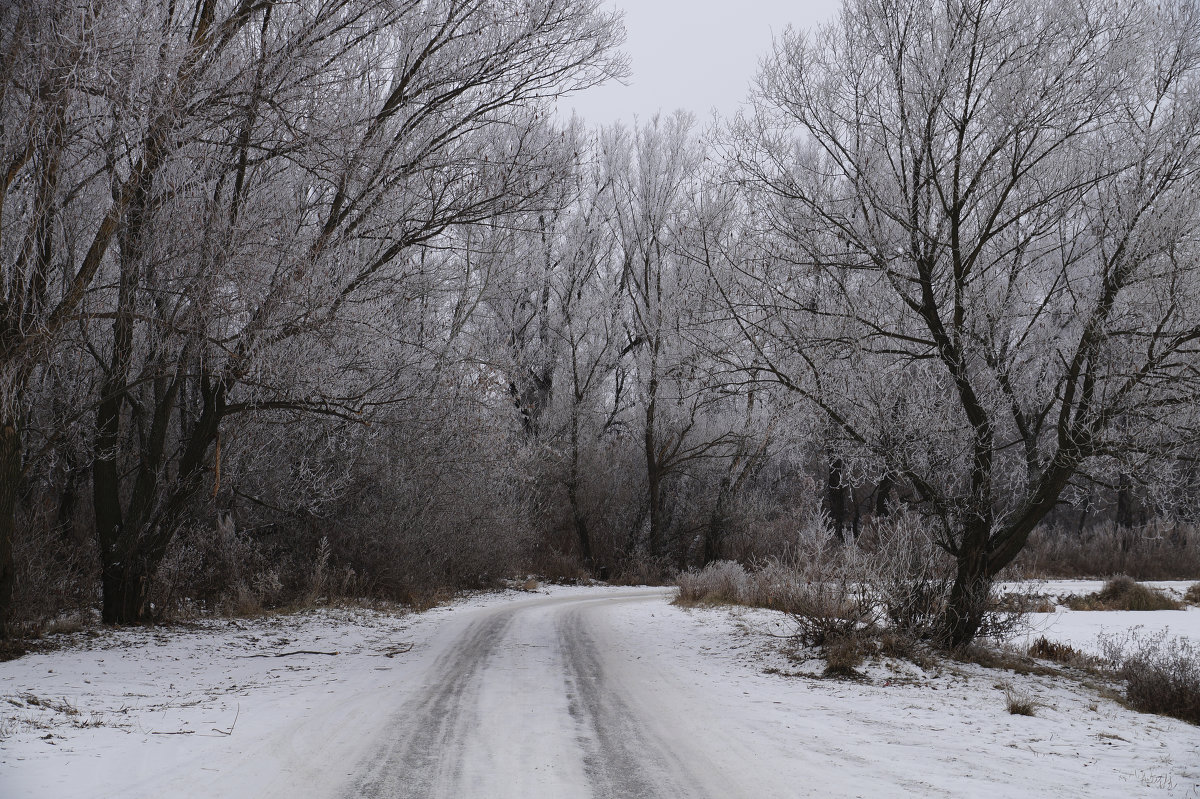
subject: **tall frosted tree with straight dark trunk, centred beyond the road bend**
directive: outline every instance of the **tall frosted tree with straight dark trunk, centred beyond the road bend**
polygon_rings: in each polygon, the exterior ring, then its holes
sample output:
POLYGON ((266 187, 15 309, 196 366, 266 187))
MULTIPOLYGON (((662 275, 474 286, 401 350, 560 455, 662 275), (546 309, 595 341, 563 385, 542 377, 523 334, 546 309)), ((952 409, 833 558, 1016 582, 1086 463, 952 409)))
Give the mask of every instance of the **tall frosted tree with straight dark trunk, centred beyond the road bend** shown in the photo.
MULTIPOLYGON (((724 346, 719 295, 706 268, 703 149, 691 119, 654 118, 601 137, 625 298, 623 354, 636 380, 647 475, 649 554, 668 552, 668 481, 698 462, 730 456, 737 422, 714 350, 724 346)), ((678 530, 677 530, 678 531, 678 530)), ((676 553, 678 554, 678 553, 676 553)))

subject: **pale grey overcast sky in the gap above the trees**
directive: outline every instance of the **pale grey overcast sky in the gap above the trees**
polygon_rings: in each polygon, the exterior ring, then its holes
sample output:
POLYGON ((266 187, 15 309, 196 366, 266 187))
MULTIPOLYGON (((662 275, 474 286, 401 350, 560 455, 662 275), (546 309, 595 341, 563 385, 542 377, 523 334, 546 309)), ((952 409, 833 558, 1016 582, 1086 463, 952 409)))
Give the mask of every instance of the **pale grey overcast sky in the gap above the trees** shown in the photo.
POLYGON ((661 109, 733 113, 745 98, 772 35, 792 24, 811 28, 836 11, 838 0, 608 0, 625 11, 632 74, 562 101, 589 122, 631 122, 661 109))

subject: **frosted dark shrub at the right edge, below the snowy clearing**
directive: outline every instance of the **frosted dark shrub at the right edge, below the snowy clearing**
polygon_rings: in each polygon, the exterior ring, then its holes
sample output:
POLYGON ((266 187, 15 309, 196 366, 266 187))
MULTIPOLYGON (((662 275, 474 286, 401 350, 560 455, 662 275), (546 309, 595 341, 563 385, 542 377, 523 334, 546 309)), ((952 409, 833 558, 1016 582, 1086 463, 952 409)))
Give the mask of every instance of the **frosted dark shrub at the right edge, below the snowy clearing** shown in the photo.
POLYGON ((1200 647, 1163 631, 1102 637, 1100 648, 1126 680, 1130 707, 1200 725, 1200 647))

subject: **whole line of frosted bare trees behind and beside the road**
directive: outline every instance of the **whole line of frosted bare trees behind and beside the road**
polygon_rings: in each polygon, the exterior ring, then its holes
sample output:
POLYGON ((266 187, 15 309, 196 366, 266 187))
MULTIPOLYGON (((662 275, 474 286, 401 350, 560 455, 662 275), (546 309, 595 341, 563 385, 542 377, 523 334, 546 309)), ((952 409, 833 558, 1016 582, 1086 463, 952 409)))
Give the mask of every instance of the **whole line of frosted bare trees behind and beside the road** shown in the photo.
POLYGON ((852 0, 710 130, 557 119, 620 38, 5 6, 5 617, 647 579, 906 506, 962 642, 1064 504, 1193 504, 1192 6, 852 0))

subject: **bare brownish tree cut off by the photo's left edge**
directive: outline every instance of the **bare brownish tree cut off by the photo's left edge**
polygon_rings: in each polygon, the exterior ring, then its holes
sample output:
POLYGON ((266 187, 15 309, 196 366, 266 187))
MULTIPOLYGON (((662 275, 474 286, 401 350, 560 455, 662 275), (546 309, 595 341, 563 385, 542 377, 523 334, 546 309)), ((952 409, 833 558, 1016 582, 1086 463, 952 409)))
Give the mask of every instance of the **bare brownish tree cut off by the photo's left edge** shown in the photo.
POLYGON ((113 32, 91 4, 0 7, 0 635, 13 591, 12 546, 28 464, 28 389, 55 356, 103 263, 136 176, 102 176, 95 94, 113 32))

